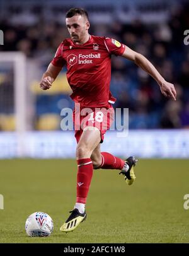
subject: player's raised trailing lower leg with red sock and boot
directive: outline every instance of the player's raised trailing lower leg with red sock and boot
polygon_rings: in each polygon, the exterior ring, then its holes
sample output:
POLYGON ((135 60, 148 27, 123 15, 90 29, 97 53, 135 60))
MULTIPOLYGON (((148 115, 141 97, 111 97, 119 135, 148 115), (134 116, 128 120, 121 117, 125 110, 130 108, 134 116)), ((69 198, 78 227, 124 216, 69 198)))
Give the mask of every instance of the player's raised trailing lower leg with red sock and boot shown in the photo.
POLYGON ((134 166, 137 162, 134 157, 129 157, 125 161, 115 157, 108 152, 101 152, 100 144, 93 150, 91 154, 94 169, 118 169, 121 170, 125 181, 128 185, 132 185, 135 180, 134 166))

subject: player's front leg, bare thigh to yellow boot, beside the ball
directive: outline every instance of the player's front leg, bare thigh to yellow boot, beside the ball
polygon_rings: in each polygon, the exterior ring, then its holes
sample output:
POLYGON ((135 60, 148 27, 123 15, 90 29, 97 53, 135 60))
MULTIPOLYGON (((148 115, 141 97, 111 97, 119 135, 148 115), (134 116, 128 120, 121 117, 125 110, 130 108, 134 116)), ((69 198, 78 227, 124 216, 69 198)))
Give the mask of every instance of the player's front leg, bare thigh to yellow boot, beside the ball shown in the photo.
POLYGON ((86 219, 85 204, 88 196, 91 179, 93 176, 93 162, 91 154, 100 143, 100 130, 86 127, 77 144, 77 198, 74 210, 67 221, 61 226, 60 231, 69 232, 86 219))

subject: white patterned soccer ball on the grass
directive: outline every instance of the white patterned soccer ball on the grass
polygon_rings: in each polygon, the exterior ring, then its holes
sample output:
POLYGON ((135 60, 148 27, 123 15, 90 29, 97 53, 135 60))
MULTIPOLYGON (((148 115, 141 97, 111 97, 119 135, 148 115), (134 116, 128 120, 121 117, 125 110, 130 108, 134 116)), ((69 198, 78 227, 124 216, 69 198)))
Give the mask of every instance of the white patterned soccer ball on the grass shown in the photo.
POLYGON ((50 236, 54 228, 51 217, 45 212, 34 212, 26 219, 28 236, 50 236))

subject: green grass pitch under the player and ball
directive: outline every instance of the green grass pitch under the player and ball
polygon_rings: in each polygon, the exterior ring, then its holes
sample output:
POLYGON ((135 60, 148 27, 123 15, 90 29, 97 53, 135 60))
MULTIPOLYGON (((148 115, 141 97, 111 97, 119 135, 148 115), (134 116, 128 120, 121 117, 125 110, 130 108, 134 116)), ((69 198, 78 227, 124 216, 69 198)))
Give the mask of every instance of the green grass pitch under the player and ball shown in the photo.
POLYGON ((86 221, 71 233, 59 231, 76 198, 75 160, 0 161, 0 243, 188 243, 189 160, 140 159, 137 179, 127 186, 118 170, 95 170, 86 221), (48 238, 30 238, 25 221, 47 212, 48 238))

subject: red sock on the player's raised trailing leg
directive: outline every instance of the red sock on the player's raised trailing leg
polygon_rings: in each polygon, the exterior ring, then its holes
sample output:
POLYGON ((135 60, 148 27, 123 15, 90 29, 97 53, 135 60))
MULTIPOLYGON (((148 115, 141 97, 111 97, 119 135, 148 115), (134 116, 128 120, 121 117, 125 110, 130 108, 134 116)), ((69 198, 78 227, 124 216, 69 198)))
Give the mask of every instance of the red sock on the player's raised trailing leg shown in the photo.
POLYGON ((115 157, 114 155, 108 152, 101 152, 101 169, 118 169, 122 170, 125 161, 115 157))

